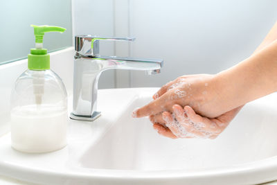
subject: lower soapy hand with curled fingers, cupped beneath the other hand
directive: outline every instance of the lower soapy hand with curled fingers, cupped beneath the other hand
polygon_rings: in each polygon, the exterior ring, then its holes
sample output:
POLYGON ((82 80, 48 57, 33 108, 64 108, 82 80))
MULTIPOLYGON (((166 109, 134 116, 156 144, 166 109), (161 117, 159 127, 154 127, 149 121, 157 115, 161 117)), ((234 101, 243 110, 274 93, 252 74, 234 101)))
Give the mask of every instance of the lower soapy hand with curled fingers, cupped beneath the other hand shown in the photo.
POLYGON ((185 106, 183 109, 180 105, 173 105, 172 114, 163 112, 162 114, 151 115, 150 121, 159 134, 171 139, 215 139, 229 125, 242 106, 217 118, 206 118, 196 114, 190 106, 185 106))

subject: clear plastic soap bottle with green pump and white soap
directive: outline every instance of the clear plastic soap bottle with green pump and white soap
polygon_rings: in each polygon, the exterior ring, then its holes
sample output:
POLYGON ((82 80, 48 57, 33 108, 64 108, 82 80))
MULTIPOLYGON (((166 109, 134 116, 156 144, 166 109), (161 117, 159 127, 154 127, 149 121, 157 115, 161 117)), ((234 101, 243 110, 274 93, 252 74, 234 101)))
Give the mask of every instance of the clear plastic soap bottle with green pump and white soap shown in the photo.
POLYGON ((51 152, 66 146, 67 96, 59 76, 50 69, 42 49, 46 32, 64 32, 57 26, 34 26, 35 49, 28 69, 17 78, 11 95, 12 148, 21 152, 51 152))

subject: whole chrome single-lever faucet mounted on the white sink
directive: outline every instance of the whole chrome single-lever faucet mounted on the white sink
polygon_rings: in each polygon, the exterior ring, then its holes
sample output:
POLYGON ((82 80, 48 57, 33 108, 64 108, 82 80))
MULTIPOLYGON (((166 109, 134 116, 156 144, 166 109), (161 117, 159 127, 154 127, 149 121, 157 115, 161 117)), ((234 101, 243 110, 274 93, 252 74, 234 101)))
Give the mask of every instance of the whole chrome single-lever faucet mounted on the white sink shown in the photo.
POLYGON ((98 80, 108 69, 143 70, 148 75, 160 73, 163 60, 119 58, 99 55, 100 40, 134 41, 130 37, 75 36, 73 74, 73 112, 71 118, 93 121, 100 116, 97 107, 98 80))

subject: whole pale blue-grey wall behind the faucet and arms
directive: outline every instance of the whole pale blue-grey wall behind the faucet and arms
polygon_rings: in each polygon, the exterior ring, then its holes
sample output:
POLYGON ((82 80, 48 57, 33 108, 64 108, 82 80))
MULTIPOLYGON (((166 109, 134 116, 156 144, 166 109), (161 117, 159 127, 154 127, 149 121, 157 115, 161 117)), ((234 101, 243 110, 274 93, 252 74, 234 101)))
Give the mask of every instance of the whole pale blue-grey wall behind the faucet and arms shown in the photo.
POLYGON ((185 74, 217 73, 249 57, 277 21, 276 7, 274 0, 73 0, 73 31, 134 36, 134 43, 102 43, 102 51, 165 61, 155 76, 104 72, 101 88, 159 87, 185 74))

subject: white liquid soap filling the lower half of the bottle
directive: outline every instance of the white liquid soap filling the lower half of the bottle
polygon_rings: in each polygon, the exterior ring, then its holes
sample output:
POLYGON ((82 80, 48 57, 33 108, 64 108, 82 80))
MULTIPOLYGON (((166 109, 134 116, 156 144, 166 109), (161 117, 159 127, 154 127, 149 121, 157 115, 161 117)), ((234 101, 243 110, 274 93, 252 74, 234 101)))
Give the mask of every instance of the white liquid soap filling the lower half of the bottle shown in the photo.
POLYGON ((66 109, 27 105, 12 109, 11 118, 12 148, 21 152, 51 152, 66 146, 66 109))

